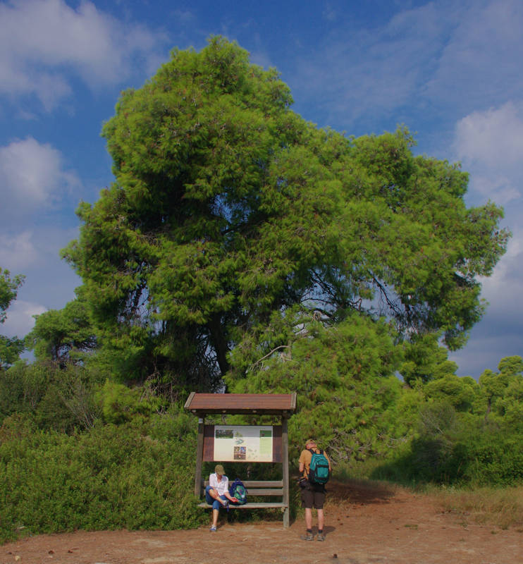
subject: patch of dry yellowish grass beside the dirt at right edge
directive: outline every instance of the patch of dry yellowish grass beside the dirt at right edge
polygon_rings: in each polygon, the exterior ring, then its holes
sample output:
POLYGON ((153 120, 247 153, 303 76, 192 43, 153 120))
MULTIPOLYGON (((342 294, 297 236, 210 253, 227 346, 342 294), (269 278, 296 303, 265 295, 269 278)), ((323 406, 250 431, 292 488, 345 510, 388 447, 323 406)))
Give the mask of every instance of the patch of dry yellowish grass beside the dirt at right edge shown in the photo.
POLYGON ((444 511, 462 515, 467 521, 515 527, 523 531, 523 486, 457 490, 434 488, 429 492, 444 511))

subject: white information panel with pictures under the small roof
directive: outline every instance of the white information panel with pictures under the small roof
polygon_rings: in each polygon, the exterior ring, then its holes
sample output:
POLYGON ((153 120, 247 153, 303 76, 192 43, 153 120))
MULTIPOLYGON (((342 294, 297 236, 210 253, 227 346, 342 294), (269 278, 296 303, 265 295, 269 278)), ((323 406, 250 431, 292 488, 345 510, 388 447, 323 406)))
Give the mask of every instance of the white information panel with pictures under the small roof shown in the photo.
POLYGON ((272 462, 271 425, 214 425, 214 460, 272 462))

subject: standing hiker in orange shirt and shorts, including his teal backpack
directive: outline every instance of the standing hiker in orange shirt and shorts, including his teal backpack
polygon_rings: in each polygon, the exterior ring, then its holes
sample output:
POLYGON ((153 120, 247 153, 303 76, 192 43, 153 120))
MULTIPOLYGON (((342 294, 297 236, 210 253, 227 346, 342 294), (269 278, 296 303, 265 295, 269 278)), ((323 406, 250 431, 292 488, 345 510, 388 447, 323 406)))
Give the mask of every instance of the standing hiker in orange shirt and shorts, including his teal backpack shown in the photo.
POLYGON ((314 439, 305 443, 305 449, 300 454, 300 487, 302 489, 302 507, 305 508, 305 541, 314 540, 312 534, 312 507, 318 512, 318 536, 316 540, 324 541, 324 503, 325 484, 331 476, 331 461, 314 439))

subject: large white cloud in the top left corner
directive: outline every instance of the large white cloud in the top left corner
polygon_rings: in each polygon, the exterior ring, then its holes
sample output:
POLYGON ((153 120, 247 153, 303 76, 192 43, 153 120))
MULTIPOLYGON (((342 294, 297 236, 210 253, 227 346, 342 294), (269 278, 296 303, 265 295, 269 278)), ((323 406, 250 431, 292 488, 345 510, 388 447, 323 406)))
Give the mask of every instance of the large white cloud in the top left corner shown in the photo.
POLYGON ((0 94, 34 94, 47 110, 71 92, 66 71, 91 87, 127 78, 136 56, 147 59, 166 37, 121 23, 90 1, 0 4, 0 94))

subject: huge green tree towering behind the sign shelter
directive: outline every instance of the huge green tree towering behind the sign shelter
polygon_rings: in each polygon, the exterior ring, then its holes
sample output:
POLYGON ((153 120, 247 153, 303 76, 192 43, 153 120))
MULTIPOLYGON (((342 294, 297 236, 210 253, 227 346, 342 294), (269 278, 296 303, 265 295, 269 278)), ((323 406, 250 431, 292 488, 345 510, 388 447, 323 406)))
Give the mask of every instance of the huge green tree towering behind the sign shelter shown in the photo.
POLYGON ((414 156, 407 130, 347 138, 292 102, 221 37, 121 95, 103 129, 116 179, 80 204, 63 255, 128 374, 216 387, 230 351, 297 304, 326 324, 388 317, 398 339, 439 331, 450 348, 480 319, 501 210, 467 209, 467 174, 414 156))

